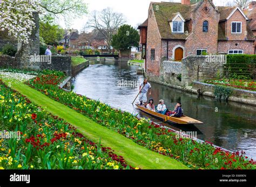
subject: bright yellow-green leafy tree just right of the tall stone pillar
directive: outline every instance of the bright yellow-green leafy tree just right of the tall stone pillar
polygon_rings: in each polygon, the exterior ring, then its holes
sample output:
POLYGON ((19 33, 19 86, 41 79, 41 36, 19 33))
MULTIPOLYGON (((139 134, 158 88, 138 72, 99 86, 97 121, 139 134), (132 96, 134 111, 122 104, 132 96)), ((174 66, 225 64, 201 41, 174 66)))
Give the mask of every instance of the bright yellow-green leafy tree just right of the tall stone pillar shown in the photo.
POLYGON ((64 30, 59 25, 53 23, 53 18, 45 17, 39 22, 40 35, 47 45, 57 45, 63 38, 64 30))

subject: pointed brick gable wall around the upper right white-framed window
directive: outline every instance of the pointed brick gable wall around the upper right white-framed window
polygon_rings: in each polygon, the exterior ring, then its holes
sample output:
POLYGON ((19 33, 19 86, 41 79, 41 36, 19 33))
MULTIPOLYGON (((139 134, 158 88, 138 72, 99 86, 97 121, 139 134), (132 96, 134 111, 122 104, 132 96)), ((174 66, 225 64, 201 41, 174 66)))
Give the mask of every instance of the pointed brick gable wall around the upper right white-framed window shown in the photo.
POLYGON ((244 16, 242 16, 241 12, 239 10, 236 10, 233 15, 230 17, 230 19, 227 20, 226 23, 226 37, 228 40, 245 40, 245 31, 246 31, 246 19, 244 16), (232 21, 241 21, 242 22, 242 33, 241 34, 233 34, 231 33, 232 27, 231 23, 232 21))

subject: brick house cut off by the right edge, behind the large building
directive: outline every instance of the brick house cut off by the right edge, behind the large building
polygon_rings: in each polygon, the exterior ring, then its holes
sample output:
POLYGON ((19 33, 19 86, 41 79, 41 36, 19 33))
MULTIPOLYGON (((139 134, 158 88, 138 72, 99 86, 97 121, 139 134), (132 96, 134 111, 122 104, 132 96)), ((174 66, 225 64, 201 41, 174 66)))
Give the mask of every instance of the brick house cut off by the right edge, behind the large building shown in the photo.
MULTIPOLYGON (((244 12, 245 15, 250 19, 249 26, 251 27, 254 37, 256 38, 256 1, 250 2, 249 8, 244 10, 244 12)), ((256 41, 254 42, 254 47, 254 53, 256 54, 256 41)))

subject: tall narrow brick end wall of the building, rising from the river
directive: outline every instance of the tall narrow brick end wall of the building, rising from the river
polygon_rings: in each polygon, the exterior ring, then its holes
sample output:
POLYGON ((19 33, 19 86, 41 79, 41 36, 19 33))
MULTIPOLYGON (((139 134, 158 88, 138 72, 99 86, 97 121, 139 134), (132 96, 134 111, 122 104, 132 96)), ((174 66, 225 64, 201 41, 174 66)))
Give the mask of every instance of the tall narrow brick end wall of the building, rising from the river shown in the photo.
MULTIPOLYGON (((158 31, 158 26, 154 13, 150 17, 150 10, 152 10, 152 4, 149 8, 149 20, 147 25, 147 71, 159 76, 160 60, 161 60, 161 38, 158 31), (155 49, 155 60, 151 60, 151 49, 155 49)), ((152 11, 153 12, 153 11, 152 11)))

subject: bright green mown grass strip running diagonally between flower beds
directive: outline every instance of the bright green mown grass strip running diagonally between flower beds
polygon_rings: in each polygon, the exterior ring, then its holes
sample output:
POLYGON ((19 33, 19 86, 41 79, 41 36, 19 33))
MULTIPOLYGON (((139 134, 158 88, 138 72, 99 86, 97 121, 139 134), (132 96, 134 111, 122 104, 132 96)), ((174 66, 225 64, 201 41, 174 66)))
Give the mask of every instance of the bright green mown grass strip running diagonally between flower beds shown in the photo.
POLYGON ((142 169, 189 169, 184 164, 174 159, 137 145, 123 135, 95 123, 91 119, 83 116, 83 114, 52 100, 41 92, 28 87, 28 85, 6 79, 3 81, 6 85, 11 85, 12 89, 28 97, 31 102, 75 126, 80 133, 91 141, 99 142, 100 139, 104 147, 110 147, 115 150, 117 155, 123 156, 133 167, 142 169), (11 84, 9 82, 11 82, 11 84))

